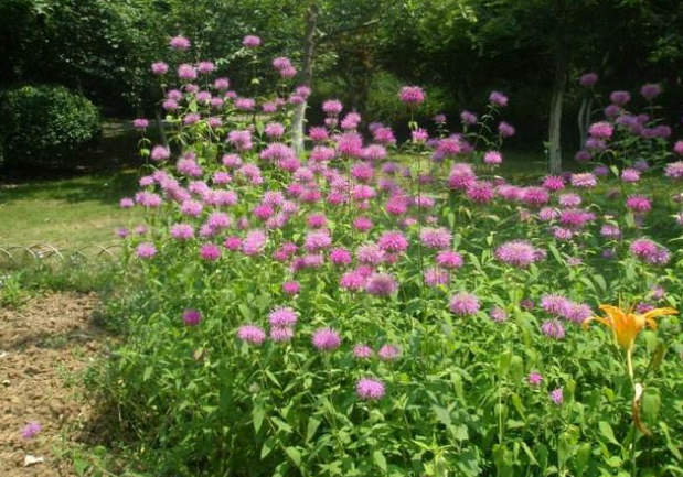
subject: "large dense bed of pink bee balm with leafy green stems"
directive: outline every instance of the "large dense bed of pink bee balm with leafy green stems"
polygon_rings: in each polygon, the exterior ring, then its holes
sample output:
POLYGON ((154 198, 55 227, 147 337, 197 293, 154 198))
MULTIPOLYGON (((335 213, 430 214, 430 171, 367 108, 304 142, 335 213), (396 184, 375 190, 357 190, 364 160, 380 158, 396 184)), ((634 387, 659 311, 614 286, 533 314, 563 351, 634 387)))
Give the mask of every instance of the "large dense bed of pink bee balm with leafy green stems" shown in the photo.
POLYGON ((517 184, 502 93, 405 144, 329 99, 300 158, 290 59, 237 93, 170 46, 170 143, 135 121, 121 200, 129 337, 95 380, 154 475, 683 474, 683 142, 655 86, 591 117, 581 171, 517 184))

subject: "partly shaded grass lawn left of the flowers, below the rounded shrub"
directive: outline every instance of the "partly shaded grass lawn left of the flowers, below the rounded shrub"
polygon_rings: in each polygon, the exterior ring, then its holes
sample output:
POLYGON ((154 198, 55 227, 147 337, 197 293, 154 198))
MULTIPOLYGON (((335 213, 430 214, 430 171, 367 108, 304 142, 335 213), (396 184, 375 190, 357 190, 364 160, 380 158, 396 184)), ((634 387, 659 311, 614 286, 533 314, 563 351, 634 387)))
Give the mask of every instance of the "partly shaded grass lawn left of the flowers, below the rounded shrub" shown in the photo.
POLYGON ((100 145, 76 159, 70 172, 24 173, 0 183, 0 246, 74 250, 116 242, 114 229, 137 218, 118 207, 136 191, 135 152, 135 135, 120 123, 105 123, 100 145))

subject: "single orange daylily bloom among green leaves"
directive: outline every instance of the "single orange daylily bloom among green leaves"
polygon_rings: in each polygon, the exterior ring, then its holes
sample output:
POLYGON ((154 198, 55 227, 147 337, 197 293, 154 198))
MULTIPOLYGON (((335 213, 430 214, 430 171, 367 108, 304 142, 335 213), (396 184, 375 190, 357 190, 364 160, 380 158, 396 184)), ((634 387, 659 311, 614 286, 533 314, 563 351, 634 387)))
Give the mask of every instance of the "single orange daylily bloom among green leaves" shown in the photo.
POLYGON ((612 305, 600 305, 600 310, 605 313, 606 317, 594 316, 584 322, 584 327, 588 327, 590 322, 602 323, 608 328, 612 329, 615 339, 621 349, 625 351, 631 351, 636 337, 645 327, 657 329, 657 323, 654 318, 658 316, 675 315, 674 308, 654 308, 647 313, 631 313, 631 311, 622 311, 621 308, 612 305))

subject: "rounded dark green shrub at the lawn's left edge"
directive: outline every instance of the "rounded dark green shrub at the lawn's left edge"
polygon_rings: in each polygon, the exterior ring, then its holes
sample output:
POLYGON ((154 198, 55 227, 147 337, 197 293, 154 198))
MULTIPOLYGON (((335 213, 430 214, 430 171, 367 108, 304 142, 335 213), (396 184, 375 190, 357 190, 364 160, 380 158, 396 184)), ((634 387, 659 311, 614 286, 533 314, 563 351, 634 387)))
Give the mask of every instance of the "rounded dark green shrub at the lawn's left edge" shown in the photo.
POLYGON ((4 165, 54 165, 97 137, 99 111, 62 86, 22 86, 0 100, 4 165))

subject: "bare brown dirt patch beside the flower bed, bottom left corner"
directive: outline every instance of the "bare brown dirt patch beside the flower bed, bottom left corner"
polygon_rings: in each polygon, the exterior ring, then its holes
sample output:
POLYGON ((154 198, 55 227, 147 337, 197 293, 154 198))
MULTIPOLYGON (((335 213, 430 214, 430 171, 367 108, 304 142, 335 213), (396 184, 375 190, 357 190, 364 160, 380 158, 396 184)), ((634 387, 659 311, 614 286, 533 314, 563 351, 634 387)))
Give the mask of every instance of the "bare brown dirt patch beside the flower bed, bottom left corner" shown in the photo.
POLYGON ((96 304, 95 295, 55 293, 0 310, 0 476, 75 476, 60 454, 93 414, 81 380, 104 348, 96 304), (42 426, 32 438, 22 436, 29 422, 42 426), (43 460, 28 465, 31 457, 43 460))

